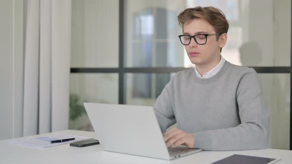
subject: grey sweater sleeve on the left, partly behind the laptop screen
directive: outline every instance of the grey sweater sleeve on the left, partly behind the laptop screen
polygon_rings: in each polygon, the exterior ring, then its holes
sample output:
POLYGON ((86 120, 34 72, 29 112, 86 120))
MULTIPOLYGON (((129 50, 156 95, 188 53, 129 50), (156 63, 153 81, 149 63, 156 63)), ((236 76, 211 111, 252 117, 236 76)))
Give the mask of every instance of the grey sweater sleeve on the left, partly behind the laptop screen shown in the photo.
POLYGON ((175 115, 173 112, 173 78, 163 88, 161 94, 157 97, 153 106, 157 121, 159 123, 162 133, 166 129, 176 123, 175 115))

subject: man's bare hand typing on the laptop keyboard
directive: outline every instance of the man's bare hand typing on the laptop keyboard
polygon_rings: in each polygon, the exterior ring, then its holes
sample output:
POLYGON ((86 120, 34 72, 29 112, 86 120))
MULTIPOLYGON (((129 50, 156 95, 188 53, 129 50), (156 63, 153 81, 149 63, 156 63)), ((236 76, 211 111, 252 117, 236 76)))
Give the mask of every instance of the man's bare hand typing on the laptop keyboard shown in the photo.
POLYGON ((195 139, 193 135, 176 127, 166 131, 163 138, 167 147, 175 148, 179 145, 185 145, 188 148, 194 148, 195 139))

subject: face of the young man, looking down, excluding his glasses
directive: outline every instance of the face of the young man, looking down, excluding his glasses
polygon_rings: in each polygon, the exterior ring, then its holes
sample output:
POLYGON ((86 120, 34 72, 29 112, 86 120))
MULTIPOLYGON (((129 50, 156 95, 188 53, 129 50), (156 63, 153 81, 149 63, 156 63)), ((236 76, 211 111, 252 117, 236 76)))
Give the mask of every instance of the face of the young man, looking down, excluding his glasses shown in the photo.
MULTIPOLYGON (((184 25, 184 34, 194 36, 196 34, 215 34, 215 30, 206 20, 194 19, 184 25)), ((189 45, 185 45, 188 56, 193 64, 208 65, 213 63, 220 54, 219 41, 216 35, 207 36, 207 42, 197 44, 192 38, 189 45)))

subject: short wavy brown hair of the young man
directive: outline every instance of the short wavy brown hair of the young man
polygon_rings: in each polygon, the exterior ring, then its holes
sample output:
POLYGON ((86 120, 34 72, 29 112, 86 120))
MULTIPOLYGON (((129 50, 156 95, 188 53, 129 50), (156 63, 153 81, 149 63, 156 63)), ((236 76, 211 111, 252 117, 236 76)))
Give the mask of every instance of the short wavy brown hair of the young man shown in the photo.
POLYGON ((229 24, 225 17, 225 14, 215 7, 194 7, 187 8, 178 15, 179 25, 184 29, 184 24, 193 19, 204 19, 210 23, 215 32, 218 34, 224 34, 228 32, 229 24))

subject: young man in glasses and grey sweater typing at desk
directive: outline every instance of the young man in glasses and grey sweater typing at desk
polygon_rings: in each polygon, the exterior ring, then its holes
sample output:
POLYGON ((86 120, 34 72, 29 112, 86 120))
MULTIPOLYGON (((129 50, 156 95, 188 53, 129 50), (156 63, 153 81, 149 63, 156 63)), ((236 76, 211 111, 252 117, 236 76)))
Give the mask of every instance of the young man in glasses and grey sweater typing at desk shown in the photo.
POLYGON ((223 12, 187 8, 178 21, 183 28, 179 38, 195 69, 176 73, 153 106, 167 147, 266 148, 269 111, 257 74, 220 55, 229 28, 223 12), (174 123, 177 128, 166 131, 174 123))

